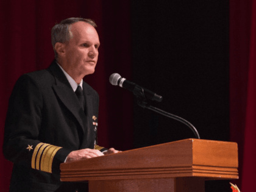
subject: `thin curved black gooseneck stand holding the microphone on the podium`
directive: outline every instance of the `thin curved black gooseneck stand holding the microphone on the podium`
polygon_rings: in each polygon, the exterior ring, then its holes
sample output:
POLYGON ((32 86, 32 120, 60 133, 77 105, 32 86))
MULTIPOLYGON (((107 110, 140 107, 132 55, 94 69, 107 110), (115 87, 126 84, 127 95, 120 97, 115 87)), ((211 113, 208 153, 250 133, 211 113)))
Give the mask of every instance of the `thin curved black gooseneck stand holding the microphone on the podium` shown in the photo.
POLYGON ((190 129, 193 131, 194 135, 196 135, 196 138, 200 139, 199 133, 197 132, 196 127, 194 127, 193 124, 191 124, 190 122, 188 122, 187 120, 185 120, 179 116, 172 115, 171 113, 165 112, 159 108, 152 107, 151 105, 149 105, 146 100, 146 97, 144 95, 143 88, 136 86, 133 90, 133 94, 135 94, 135 96, 137 97, 138 105, 140 105, 143 108, 148 108, 148 109, 150 109, 154 112, 157 112, 161 115, 167 116, 168 118, 172 118, 172 119, 176 119, 177 121, 180 121, 181 123, 190 127, 190 129))

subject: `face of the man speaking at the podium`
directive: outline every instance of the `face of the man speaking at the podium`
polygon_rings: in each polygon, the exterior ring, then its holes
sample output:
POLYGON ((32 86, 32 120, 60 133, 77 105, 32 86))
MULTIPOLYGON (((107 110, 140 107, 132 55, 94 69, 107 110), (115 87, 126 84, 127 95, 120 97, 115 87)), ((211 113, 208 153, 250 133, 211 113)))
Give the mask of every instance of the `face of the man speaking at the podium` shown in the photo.
POLYGON ((98 61, 99 36, 93 26, 84 21, 71 25, 73 34, 65 46, 65 65, 67 71, 76 76, 94 73, 98 61))

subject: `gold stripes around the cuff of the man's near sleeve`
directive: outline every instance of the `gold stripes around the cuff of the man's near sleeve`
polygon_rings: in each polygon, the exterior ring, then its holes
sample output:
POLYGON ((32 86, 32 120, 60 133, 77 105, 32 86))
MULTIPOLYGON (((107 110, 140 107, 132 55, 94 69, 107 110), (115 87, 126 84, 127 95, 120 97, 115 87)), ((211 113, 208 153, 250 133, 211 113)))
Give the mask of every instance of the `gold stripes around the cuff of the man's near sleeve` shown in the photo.
POLYGON ((61 149, 61 147, 47 143, 37 144, 32 155, 32 168, 41 171, 52 172, 52 162, 56 152, 59 149, 61 149))

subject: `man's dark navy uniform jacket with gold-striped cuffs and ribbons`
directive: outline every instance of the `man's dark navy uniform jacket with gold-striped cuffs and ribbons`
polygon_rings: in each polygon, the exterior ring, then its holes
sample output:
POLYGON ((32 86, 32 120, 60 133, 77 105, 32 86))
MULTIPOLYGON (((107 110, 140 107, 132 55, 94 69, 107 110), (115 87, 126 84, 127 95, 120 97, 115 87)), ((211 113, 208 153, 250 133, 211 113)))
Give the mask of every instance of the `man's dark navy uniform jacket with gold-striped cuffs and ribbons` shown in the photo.
POLYGON ((69 152, 94 149, 99 96, 85 82, 83 91, 85 111, 55 61, 18 79, 4 132, 3 152, 14 163, 10 191, 56 191, 69 152))

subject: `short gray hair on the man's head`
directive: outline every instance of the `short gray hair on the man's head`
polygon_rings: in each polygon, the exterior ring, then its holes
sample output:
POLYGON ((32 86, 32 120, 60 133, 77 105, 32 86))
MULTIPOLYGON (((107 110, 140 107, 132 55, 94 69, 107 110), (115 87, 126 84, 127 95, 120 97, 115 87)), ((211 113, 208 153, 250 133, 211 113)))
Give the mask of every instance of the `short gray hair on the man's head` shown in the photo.
MULTIPOLYGON (((56 43, 65 43, 66 41, 69 41, 71 38, 73 38, 73 34, 70 30, 70 26, 73 23, 77 23, 79 21, 84 21, 85 23, 90 24, 94 28, 97 27, 96 23, 93 20, 90 19, 84 19, 84 18, 68 18, 66 20, 62 20, 59 24, 55 24, 54 27, 52 27, 52 47, 54 48, 56 43)), ((54 48, 54 55, 55 59, 58 59, 58 53, 54 48)))

